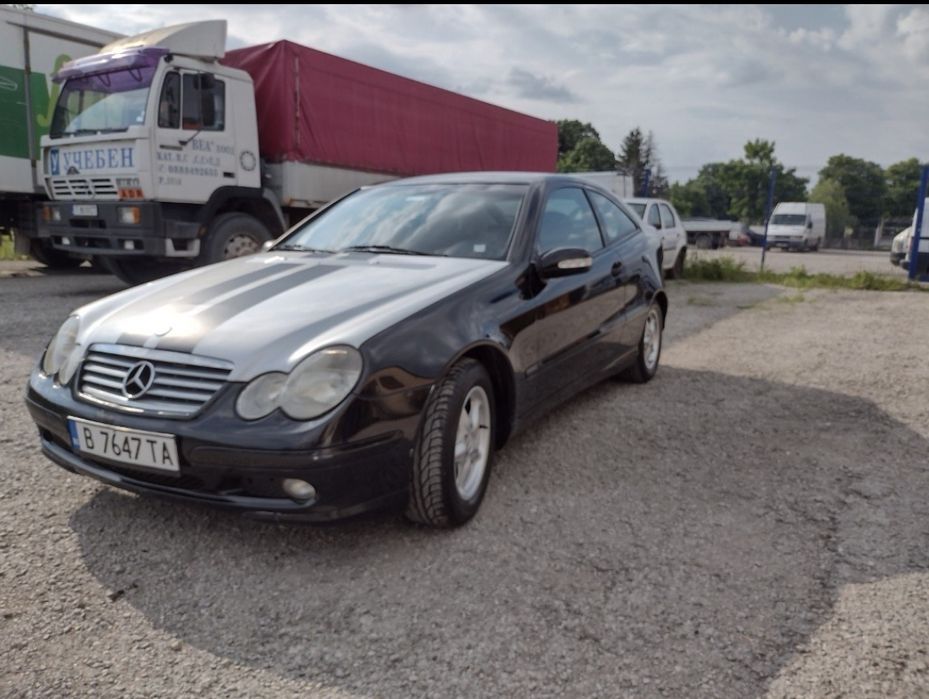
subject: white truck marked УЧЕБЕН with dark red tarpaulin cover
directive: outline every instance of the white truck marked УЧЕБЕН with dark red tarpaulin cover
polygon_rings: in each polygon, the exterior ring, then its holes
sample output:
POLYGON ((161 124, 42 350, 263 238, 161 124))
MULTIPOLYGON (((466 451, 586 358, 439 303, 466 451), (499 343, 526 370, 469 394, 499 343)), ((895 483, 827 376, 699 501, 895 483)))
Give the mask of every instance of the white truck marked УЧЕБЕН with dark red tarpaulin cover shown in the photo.
POLYGON ((257 251, 359 186, 553 171, 553 122, 226 23, 120 39, 64 65, 37 236, 129 283, 257 251))

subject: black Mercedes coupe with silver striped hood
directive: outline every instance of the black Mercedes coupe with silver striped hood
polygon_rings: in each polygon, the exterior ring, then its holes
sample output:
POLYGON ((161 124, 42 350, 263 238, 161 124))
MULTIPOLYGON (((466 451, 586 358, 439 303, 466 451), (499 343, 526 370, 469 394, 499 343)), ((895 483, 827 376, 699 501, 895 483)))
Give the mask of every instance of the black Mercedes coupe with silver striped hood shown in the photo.
POLYGON ((29 380, 42 450, 141 494, 327 520, 477 511, 494 450, 658 370, 657 248, 606 190, 529 173, 355 191, 266 252, 76 310, 29 380))

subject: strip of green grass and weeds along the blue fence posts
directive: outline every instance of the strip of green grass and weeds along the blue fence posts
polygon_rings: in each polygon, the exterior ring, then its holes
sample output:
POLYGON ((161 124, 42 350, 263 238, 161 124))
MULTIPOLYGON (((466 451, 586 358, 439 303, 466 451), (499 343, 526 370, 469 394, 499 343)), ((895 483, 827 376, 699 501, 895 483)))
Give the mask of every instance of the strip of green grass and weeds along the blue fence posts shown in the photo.
MULTIPOLYGON (((693 282, 758 282, 780 284, 795 289, 861 289, 867 291, 906 291, 926 287, 900 277, 873 272, 855 272, 851 276, 838 274, 810 274, 805 267, 793 267, 789 272, 753 272, 745 263, 731 257, 712 260, 687 260, 684 279, 693 282)), ((802 300, 802 299, 800 299, 802 300)), ((797 301, 795 301, 796 303, 797 301)))

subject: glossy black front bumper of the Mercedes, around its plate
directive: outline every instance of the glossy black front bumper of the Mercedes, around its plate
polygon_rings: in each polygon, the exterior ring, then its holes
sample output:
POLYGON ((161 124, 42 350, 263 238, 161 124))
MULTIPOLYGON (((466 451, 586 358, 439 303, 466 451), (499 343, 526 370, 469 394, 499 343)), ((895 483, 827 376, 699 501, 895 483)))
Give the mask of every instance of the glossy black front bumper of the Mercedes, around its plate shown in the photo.
MULTIPOLYGON (((355 429, 365 425, 365 415, 383 416, 383 406, 356 399, 341 415, 316 427, 301 429, 280 417, 281 427, 289 431, 276 430, 274 421, 256 429, 230 413, 233 395, 221 396, 195 420, 143 418, 77 401, 69 389, 35 375, 26 404, 39 428, 43 453, 68 471, 135 493, 230 508, 253 518, 312 522, 406 502, 419 409, 427 395, 428 389, 419 389, 410 396, 405 414, 378 418, 356 430, 352 439, 326 446, 318 444, 324 434, 339 431, 337 423, 348 421, 355 429), (71 442, 69 417, 172 434, 179 471, 153 472, 79 453, 71 442), (316 498, 288 497, 283 489, 287 478, 313 485, 316 498)), ((393 405, 397 403, 394 399, 393 405)))

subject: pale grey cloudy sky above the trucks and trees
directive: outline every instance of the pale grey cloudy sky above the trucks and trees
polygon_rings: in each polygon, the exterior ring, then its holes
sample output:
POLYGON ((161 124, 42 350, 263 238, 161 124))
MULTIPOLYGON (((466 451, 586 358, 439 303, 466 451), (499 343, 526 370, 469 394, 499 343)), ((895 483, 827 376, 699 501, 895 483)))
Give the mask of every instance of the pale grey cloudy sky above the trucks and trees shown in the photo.
POLYGON ((137 33, 225 18, 230 48, 291 39, 546 119, 617 150, 655 133, 672 180, 751 138, 815 177, 835 153, 929 161, 929 8, 919 5, 38 5, 137 33))

